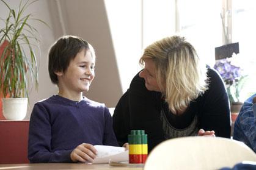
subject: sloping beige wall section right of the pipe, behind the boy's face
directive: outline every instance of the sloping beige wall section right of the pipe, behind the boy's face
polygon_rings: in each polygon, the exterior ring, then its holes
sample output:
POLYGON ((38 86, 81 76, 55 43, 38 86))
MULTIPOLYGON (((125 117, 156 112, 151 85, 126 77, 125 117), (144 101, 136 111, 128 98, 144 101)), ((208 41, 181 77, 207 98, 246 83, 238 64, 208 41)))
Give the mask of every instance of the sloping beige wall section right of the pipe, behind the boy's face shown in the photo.
MULTIPOLYGON (((50 2, 52 16, 56 16, 56 7, 54 8, 53 1, 50 2)), ((59 30, 66 30, 66 34, 78 35, 89 41, 95 48, 96 76, 89 92, 85 95, 105 103, 108 107, 115 107, 122 96, 122 88, 103 0, 56 2, 59 2, 62 7, 61 13, 64 16, 63 26, 65 27, 60 29, 59 18, 53 19, 57 37, 61 35, 59 30)))

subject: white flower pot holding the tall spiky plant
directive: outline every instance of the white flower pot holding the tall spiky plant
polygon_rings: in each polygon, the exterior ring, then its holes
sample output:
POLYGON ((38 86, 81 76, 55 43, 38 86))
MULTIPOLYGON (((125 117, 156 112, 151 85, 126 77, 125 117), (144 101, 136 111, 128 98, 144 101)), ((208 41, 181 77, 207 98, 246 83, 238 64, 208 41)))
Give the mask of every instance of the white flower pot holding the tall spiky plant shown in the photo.
POLYGON ((2 98, 2 115, 7 120, 21 121, 27 114, 27 98, 2 98))

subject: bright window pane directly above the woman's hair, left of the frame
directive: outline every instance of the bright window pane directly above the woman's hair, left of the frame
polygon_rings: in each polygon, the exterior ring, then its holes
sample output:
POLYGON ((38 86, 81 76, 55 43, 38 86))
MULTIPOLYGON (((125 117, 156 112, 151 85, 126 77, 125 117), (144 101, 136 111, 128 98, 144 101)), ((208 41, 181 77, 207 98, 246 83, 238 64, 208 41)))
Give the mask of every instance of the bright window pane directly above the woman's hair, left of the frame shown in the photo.
POLYGON ((177 0, 176 31, 195 47, 199 57, 214 65, 214 50, 222 46, 221 1, 177 0))

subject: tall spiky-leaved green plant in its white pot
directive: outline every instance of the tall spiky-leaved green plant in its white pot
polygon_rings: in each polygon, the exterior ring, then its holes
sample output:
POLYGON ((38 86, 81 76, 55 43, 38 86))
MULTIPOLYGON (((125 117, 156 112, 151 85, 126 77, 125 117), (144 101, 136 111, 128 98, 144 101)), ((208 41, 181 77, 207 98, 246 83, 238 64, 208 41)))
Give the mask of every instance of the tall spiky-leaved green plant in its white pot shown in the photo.
MULTIPOLYGON (((4 27, 0 30, 0 94, 2 110, 6 119, 24 119, 27 112, 29 90, 35 85, 38 89, 37 53, 39 48, 37 29, 29 24, 30 19, 46 24, 32 14, 24 15, 27 7, 35 1, 20 1, 18 10, 13 10, 7 2, 1 5, 9 9, 7 17, 1 18, 4 27), (20 108, 16 108, 20 107, 20 108)), ((47 24, 46 24, 47 25, 47 24)))

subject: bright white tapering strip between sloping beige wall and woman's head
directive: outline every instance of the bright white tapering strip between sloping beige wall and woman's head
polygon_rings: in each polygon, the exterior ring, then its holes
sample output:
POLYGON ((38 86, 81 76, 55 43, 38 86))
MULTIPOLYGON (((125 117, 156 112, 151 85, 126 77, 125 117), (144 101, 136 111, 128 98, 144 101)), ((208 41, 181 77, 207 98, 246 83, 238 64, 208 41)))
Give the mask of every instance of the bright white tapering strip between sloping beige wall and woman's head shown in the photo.
POLYGON ((141 70, 142 1, 105 0, 123 92, 141 70))

